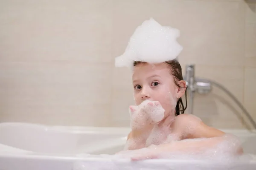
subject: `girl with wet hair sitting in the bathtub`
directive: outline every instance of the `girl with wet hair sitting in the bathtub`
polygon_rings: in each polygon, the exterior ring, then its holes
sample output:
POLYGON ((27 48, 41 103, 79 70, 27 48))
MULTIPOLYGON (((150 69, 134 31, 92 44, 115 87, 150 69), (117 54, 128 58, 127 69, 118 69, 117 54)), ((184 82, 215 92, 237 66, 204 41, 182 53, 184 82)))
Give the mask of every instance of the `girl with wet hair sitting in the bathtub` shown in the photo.
MULTIPOLYGON (((138 111, 141 112, 138 117, 132 120, 137 122, 140 128, 132 128, 126 144, 128 151, 121 153, 133 152, 132 160, 153 159, 168 153, 204 153, 221 142, 229 145, 226 152, 230 154, 236 155, 243 152, 232 136, 227 137, 224 132, 205 125, 194 115, 183 114, 181 97, 185 94, 186 82, 183 80, 181 67, 177 60, 154 65, 147 62, 134 62, 132 80, 136 105, 144 101, 152 102, 144 105, 143 109, 138 111), (158 101, 164 109, 163 119, 157 123, 147 121, 148 117, 142 118, 142 113, 152 111, 153 101, 158 101), (151 108, 147 110, 147 107, 151 108), (156 127, 158 132, 155 135, 158 136, 153 135, 148 143, 148 137, 156 127)), ((130 111, 135 112, 132 106, 130 111)))

